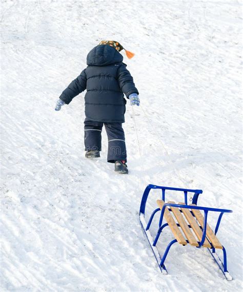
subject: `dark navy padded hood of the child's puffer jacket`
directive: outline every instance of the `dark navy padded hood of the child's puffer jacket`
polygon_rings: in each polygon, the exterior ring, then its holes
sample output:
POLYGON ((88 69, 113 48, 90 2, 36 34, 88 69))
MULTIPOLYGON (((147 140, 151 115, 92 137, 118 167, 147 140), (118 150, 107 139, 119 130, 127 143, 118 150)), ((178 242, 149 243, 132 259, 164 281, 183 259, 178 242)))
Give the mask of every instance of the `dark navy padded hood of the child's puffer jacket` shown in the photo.
POLYGON ((122 54, 108 45, 94 47, 87 56, 88 66, 106 66, 118 62, 123 62, 122 54))

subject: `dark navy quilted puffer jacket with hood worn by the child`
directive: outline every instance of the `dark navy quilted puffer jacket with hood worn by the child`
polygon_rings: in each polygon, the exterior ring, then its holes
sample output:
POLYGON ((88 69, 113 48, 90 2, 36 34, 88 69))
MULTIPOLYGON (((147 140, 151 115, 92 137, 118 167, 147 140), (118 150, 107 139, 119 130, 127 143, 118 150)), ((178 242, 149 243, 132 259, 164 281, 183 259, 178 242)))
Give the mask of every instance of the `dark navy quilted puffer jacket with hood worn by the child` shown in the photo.
POLYGON ((60 99, 69 104, 79 93, 85 95, 85 115, 93 121, 125 122, 126 99, 138 94, 123 56, 113 47, 98 45, 87 56, 87 68, 64 90, 60 99))

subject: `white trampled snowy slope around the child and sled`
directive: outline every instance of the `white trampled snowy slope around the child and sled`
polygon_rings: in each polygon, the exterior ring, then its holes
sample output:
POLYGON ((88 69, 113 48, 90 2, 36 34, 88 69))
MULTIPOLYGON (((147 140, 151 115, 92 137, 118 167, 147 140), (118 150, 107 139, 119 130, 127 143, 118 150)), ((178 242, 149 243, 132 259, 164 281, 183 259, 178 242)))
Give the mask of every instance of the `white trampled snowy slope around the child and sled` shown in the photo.
POLYGON ((2 0, 1 291, 242 289, 241 12, 236 0, 2 0), (127 176, 106 162, 105 133, 102 158, 84 158, 84 94, 54 111, 110 39, 136 54, 127 176), (138 218, 149 183, 203 189, 199 205, 233 210, 218 238, 234 281, 207 249, 179 245, 161 275, 138 218))

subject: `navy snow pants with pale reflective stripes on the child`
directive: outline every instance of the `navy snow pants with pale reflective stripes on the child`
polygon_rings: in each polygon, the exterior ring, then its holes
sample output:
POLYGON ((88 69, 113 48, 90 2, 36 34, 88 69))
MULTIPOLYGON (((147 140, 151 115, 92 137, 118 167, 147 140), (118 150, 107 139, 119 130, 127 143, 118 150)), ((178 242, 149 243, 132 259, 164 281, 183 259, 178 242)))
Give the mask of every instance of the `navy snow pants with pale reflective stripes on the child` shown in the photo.
POLYGON ((125 160, 127 162, 127 150, 125 135, 122 123, 103 123, 85 119, 85 150, 102 150, 102 128, 105 125, 108 137, 107 161, 115 163, 116 160, 125 160))

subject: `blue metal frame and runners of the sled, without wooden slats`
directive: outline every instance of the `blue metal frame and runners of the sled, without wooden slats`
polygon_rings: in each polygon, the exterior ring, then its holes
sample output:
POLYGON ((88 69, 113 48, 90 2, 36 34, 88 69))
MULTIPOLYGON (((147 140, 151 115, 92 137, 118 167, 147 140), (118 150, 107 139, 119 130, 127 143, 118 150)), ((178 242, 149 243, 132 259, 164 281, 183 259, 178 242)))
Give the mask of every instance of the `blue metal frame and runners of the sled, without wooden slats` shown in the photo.
MULTIPOLYGON (((213 211, 213 212, 220 212, 219 213, 219 216, 218 216, 218 220, 217 220, 217 224, 216 224, 216 227, 215 227, 215 231, 214 231, 214 234, 216 235, 217 231, 218 231, 218 228, 219 228, 219 225, 220 225, 220 222, 221 222, 221 218, 222 218, 222 215, 224 213, 232 213, 232 210, 227 210, 227 209, 217 209, 217 208, 207 208, 207 207, 199 207, 199 206, 189 206, 188 205, 188 193, 194 193, 193 194, 193 197, 192 197, 192 204, 195 204, 197 205, 197 199, 198 199, 198 196, 199 194, 202 193, 202 190, 190 190, 190 189, 179 189, 179 188, 170 188, 170 187, 162 187, 162 186, 156 186, 156 185, 148 185, 144 191, 144 194, 143 194, 143 197, 141 199, 141 205, 140 205, 140 212, 139 212, 139 218, 140 218, 140 223, 141 223, 141 227, 143 228, 146 236, 147 236, 147 239, 149 241, 149 244, 152 248, 152 251, 154 253, 154 256, 155 256, 155 259, 157 261, 157 264, 160 268, 160 271, 164 274, 167 274, 167 269, 166 269, 166 266, 165 266, 165 260, 166 260, 166 257, 169 253, 169 250, 171 248, 171 246, 177 242, 176 239, 172 240, 165 252, 164 252, 164 255, 163 257, 160 256, 159 254, 159 251, 156 247, 156 244, 157 244, 157 241, 159 239, 159 236, 162 232, 162 230, 168 226, 168 223, 164 223, 163 224, 163 217, 164 217, 164 212, 165 212, 165 208, 166 207, 179 207, 179 208, 187 208, 187 209, 197 209, 197 210, 202 210, 204 211, 204 227, 205 228, 201 228, 202 229, 202 238, 201 238, 201 241, 198 242, 199 246, 197 248, 201 248, 202 245, 204 244, 205 242, 205 239, 206 239, 206 228, 207 228, 207 218, 208 218, 208 212, 209 211, 213 211), (160 212, 160 218, 159 218, 159 227, 158 227, 158 231, 157 231, 157 234, 156 234, 156 237, 155 237, 155 240, 153 240, 152 238, 152 235, 149 231, 149 228, 151 226, 151 223, 153 221, 153 218, 154 218, 154 215, 160 211, 159 208, 155 209, 151 216, 150 216, 150 219, 149 219, 149 222, 148 224, 146 223, 145 221, 145 209, 146 209, 146 203, 147 203, 147 199, 148 199, 148 195, 150 193, 150 190, 151 189, 161 189, 161 192, 162 192, 162 200, 164 200, 165 202, 165 193, 166 193, 166 190, 171 190, 171 191, 180 191, 180 192, 184 192, 184 202, 186 205, 178 205, 178 204, 168 204, 166 203, 161 212, 160 212)), ((169 211, 171 211, 171 209, 169 208, 169 211)), ((192 213, 192 211, 191 211, 192 213)), ((192 213, 192 215, 194 216, 194 214, 192 213)), ((179 226, 179 224, 177 224, 177 226, 179 226)), ((191 226, 188 225, 190 228, 191 226)), ((189 243, 187 240, 186 240, 187 243, 189 243)), ((211 243, 210 243, 211 244, 211 243)), ((222 249, 222 252, 223 252, 223 256, 224 256, 224 260, 221 261, 221 259, 219 258, 219 256, 217 255, 217 253, 215 252, 215 248, 212 246, 211 244, 211 248, 208 248, 209 252, 211 253, 214 261, 217 263, 217 265, 219 266, 220 270, 222 271, 222 273, 224 274, 224 276, 226 277, 226 279, 228 281, 231 281, 233 278, 230 276, 228 270, 227 270, 227 254, 226 254, 226 249, 225 247, 223 246, 223 249, 222 249)))

